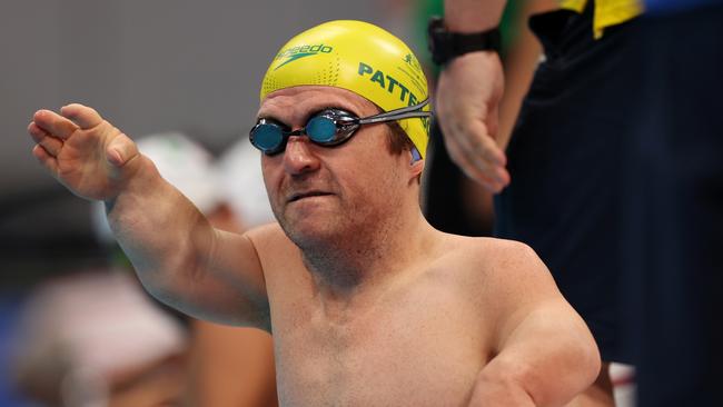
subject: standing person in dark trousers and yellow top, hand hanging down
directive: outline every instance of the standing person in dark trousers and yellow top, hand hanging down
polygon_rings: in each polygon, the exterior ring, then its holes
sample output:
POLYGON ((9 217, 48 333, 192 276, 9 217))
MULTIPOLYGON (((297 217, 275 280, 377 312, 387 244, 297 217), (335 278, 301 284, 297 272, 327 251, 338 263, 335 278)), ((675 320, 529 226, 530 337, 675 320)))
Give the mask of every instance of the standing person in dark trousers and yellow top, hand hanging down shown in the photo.
POLYGON ((501 192, 495 236, 539 252, 597 341, 604 365, 577 403, 612 406, 610 363, 634 361, 618 301, 620 147, 632 110, 631 98, 621 98, 628 69, 621 53, 641 7, 635 0, 565 0, 561 9, 531 18, 545 58, 507 145, 499 133, 504 75, 495 43, 504 4, 445 1, 445 30, 485 47, 448 50, 437 87, 438 120, 455 162, 501 192))

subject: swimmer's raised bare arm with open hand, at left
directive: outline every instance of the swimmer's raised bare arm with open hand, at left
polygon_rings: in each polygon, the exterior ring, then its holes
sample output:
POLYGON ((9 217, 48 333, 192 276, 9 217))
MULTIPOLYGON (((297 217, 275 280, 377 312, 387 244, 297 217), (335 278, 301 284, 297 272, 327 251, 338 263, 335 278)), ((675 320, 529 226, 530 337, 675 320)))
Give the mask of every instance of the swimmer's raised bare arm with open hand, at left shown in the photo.
POLYGON ((102 200, 143 286, 194 316, 269 328, 264 275, 251 241, 214 229, 136 143, 93 109, 39 110, 33 156, 75 195, 102 200))

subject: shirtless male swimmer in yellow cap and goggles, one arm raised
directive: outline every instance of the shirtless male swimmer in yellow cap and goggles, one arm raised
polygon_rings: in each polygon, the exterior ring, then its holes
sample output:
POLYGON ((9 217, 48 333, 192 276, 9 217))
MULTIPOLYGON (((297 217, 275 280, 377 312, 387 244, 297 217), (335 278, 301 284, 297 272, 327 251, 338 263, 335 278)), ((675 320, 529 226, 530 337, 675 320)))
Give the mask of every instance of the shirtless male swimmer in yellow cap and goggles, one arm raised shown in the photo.
POLYGON ((245 235, 211 228, 90 108, 40 110, 29 132, 51 175, 106 202, 153 296, 273 332, 281 405, 564 405, 597 376, 595 343, 528 247, 425 221, 426 97, 413 53, 377 27, 291 39, 251 130, 278 224, 245 235), (343 123, 380 109, 404 119, 343 123))

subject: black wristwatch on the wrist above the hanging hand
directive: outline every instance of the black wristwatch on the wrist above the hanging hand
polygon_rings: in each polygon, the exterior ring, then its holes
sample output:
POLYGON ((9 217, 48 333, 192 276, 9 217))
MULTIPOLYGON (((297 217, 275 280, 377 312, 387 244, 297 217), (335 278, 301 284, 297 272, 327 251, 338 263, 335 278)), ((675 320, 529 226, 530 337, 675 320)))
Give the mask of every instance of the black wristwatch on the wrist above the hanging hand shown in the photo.
POLYGON ((467 52, 499 52, 499 30, 497 28, 473 33, 449 32, 444 26, 444 19, 433 17, 429 19, 427 34, 432 60, 438 66, 467 52))

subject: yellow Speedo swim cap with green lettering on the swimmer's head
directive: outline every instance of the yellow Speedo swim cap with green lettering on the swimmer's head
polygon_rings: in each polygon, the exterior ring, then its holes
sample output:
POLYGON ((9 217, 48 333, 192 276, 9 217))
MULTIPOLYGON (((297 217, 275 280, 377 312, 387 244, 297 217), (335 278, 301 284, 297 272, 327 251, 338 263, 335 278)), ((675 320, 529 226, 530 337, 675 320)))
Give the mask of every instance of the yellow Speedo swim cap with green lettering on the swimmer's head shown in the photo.
MULTIPOLYGON (((339 20, 316 26, 288 41, 261 82, 260 99, 303 85, 350 90, 385 111, 427 99, 427 79, 409 47, 374 24, 339 20)), ((425 111, 429 106, 425 106, 425 111)), ((398 120, 424 158, 429 118, 398 120)))

